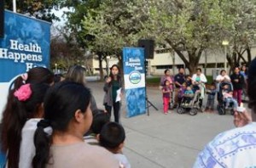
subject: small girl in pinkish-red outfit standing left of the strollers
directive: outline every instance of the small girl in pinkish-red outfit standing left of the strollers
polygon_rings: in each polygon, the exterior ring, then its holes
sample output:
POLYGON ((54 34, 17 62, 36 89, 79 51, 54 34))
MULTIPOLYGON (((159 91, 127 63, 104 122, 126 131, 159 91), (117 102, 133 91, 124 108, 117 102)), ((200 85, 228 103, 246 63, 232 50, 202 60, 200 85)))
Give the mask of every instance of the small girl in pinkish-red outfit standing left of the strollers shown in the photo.
POLYGON ((170 102, 171 92, 172 92, 172 86, 170 81, 168 80, 165 81, 165 85, 162 88, 162 92, 163 92, 164 114, 166 115, 168 113, 169 102, 170 102))

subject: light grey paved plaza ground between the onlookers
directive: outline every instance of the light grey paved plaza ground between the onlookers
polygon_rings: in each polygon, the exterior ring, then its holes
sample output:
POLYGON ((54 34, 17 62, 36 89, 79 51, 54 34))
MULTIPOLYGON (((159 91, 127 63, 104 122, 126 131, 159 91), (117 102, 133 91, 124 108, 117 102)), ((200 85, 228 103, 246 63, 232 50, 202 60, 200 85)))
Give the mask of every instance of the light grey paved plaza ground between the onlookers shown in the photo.
MULTIPOLYGON (((100 108, 103 83, 88 82, 100 108)), ((233 128, 232 115, 199 113, 178 115, 162 113, 161 92, 148 87, 148 99, 159 109, 149 108, 148 115, 125 117, 125 101, 121 109, 121 122, 125 126, 124 153, 134 168, 189 168, 203 146, 219 132, 233 128)))

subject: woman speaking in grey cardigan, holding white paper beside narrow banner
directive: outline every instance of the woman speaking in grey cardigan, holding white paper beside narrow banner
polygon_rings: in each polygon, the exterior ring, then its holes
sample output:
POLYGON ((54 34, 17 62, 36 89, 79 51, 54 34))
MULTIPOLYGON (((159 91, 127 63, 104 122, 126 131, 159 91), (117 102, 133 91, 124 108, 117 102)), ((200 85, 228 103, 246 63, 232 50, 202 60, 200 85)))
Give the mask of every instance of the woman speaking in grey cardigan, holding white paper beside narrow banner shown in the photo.
POLYGON ((106 92, 104 98, 104 105, 108 111, 109 117, 111 117, 111 109, 113 107, 114 121, 119 122, 119 111, 120 111, 120 101, 116 101, 118 95, 118 90, 122 88, 123 81, 120 76, 120 69, 117 64, 113 64, 110 68, 110 76, 106 79, 105 85, 103 87, 106 92))

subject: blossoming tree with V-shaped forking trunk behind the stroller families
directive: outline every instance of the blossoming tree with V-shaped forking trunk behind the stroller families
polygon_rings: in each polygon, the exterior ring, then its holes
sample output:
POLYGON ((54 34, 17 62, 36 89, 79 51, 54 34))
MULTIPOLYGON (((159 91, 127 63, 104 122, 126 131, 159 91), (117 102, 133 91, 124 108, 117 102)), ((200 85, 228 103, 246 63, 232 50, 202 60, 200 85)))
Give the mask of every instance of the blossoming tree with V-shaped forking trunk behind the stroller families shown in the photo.
POLYGON ((218 34, 227 26, 216 0, 162 0, 150 4, 150 20, 145 36, 168 44, 183 60, 189 73, 195 73, 206 48, 218 46, 218 34))

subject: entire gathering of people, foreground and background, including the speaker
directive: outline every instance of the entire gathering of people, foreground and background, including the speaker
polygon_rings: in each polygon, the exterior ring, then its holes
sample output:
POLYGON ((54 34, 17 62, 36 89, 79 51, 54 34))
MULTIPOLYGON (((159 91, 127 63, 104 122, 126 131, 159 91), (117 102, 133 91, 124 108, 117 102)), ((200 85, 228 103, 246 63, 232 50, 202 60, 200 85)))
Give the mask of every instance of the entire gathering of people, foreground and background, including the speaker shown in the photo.
MULTIPOLYGON (((180 106, 184 96, 185 104, 189 104, 195 92, 200 95, 201 105, 207 93, 206 111, 214 109, 214 99, 219 92, 224 95, 226 107, 234 104, 234 123, 239 128, 224 132, 208 143, 194 167, 256 164, 253 160, 256 129, 252 122, 256 114, 255 69, 256 59, 253 59, 248 71, 246 67, 241 70, 236 67, 228 76, 221 70, 216 83, 208 89, 207 77, 200 68, 193 76, 185 76, 183 68, 176 76, 165 70, 165 76, 160 79, 164 114, 173 108, 170 107, 172 102, 180 106), (247 110, 236 110, 241 105, 241 93, 246 84, 253 118, 247 110), (230 143, 235 140, 236 144, 230 143)), ((119 98, 123 92, 119 66, 113 64, 110 76, 105 79, 105 109, 97 108, 96 99, 86 86, 84 72, 79 65, 70 67, 66 76, 35 67, 15 79, 3 110, 1 150, 6 154, 5 167, 131 167, 122 153, 125 129, 119 124, 119 98), (112 109, 114 122, 110 120, 112 109)))

